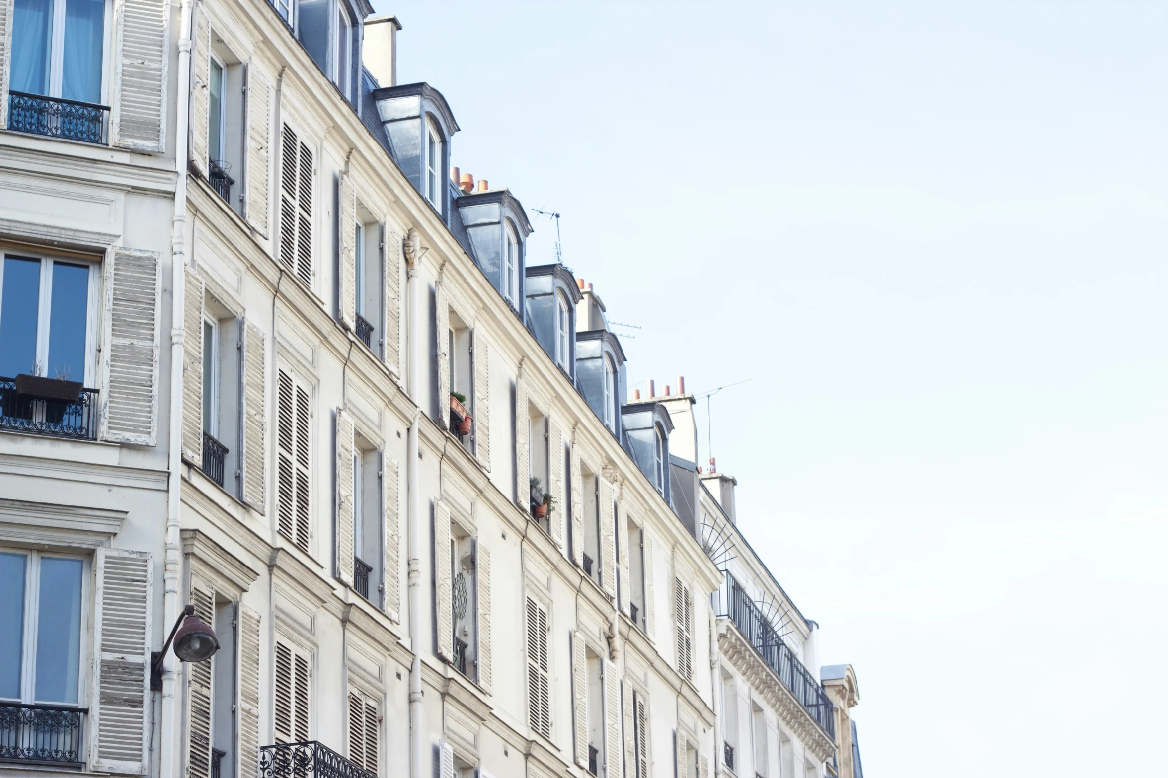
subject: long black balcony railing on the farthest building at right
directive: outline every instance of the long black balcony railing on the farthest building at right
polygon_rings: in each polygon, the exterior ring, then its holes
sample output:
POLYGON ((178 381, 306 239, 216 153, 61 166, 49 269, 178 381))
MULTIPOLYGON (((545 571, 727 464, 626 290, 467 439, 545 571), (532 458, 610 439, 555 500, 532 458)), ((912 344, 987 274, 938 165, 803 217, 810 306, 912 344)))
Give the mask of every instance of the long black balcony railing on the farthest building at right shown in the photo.
POLYGON ((835 715, 832 701, 815 678, 807 672, 802 663, 795 658, 779 637, 774 626, 766 621, 763 611, 750 598, 738 581, 729 573, 726 575, 725 610, 719 616, 728 617, 738 628, 743 637, 755 646, 763 660, 791 689, 795 699, 811 714, 811 717, 835 740, 835 715))

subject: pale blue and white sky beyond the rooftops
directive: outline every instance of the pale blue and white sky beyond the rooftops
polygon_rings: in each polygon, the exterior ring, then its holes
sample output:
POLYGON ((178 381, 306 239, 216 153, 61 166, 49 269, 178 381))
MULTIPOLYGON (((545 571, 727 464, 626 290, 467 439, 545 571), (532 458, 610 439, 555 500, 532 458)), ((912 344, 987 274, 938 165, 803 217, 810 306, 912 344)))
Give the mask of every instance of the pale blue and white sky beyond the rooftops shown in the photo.
POLYGON ((714 453, 867 778, 1164 775, 1168 3, 375 7, 631 384, 751 379, 714 453))

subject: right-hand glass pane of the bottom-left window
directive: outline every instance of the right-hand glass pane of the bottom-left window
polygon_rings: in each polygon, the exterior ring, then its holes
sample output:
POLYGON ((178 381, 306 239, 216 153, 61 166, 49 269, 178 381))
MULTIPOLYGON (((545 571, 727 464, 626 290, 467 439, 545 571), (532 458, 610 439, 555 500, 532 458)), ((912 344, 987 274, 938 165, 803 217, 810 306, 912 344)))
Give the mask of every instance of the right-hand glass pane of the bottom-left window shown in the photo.
POLYGON ((41 560, 36 615, 36 701, 76 702, 81 663, 79 559, 41 560))

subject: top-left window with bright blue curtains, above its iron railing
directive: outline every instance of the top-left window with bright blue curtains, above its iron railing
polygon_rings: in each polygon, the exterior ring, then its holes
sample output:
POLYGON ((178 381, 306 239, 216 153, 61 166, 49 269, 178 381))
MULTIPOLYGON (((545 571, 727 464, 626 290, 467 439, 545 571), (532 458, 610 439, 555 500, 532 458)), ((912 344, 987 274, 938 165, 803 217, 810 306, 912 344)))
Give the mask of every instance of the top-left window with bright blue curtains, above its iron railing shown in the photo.
POLYGON ((105 0, 15 0, 14 92, 100 103, 105 0))

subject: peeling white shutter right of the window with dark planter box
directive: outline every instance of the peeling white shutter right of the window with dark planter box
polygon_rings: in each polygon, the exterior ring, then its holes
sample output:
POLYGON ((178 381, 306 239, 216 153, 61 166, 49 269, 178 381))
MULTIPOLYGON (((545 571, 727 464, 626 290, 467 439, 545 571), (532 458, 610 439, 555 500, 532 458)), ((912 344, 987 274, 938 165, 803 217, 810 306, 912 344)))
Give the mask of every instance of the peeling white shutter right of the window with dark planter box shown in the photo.
POLYGON ((114 247, 107 254, 102 437, 153 446, 158 429, 160 264, 154 251, 114 247))

